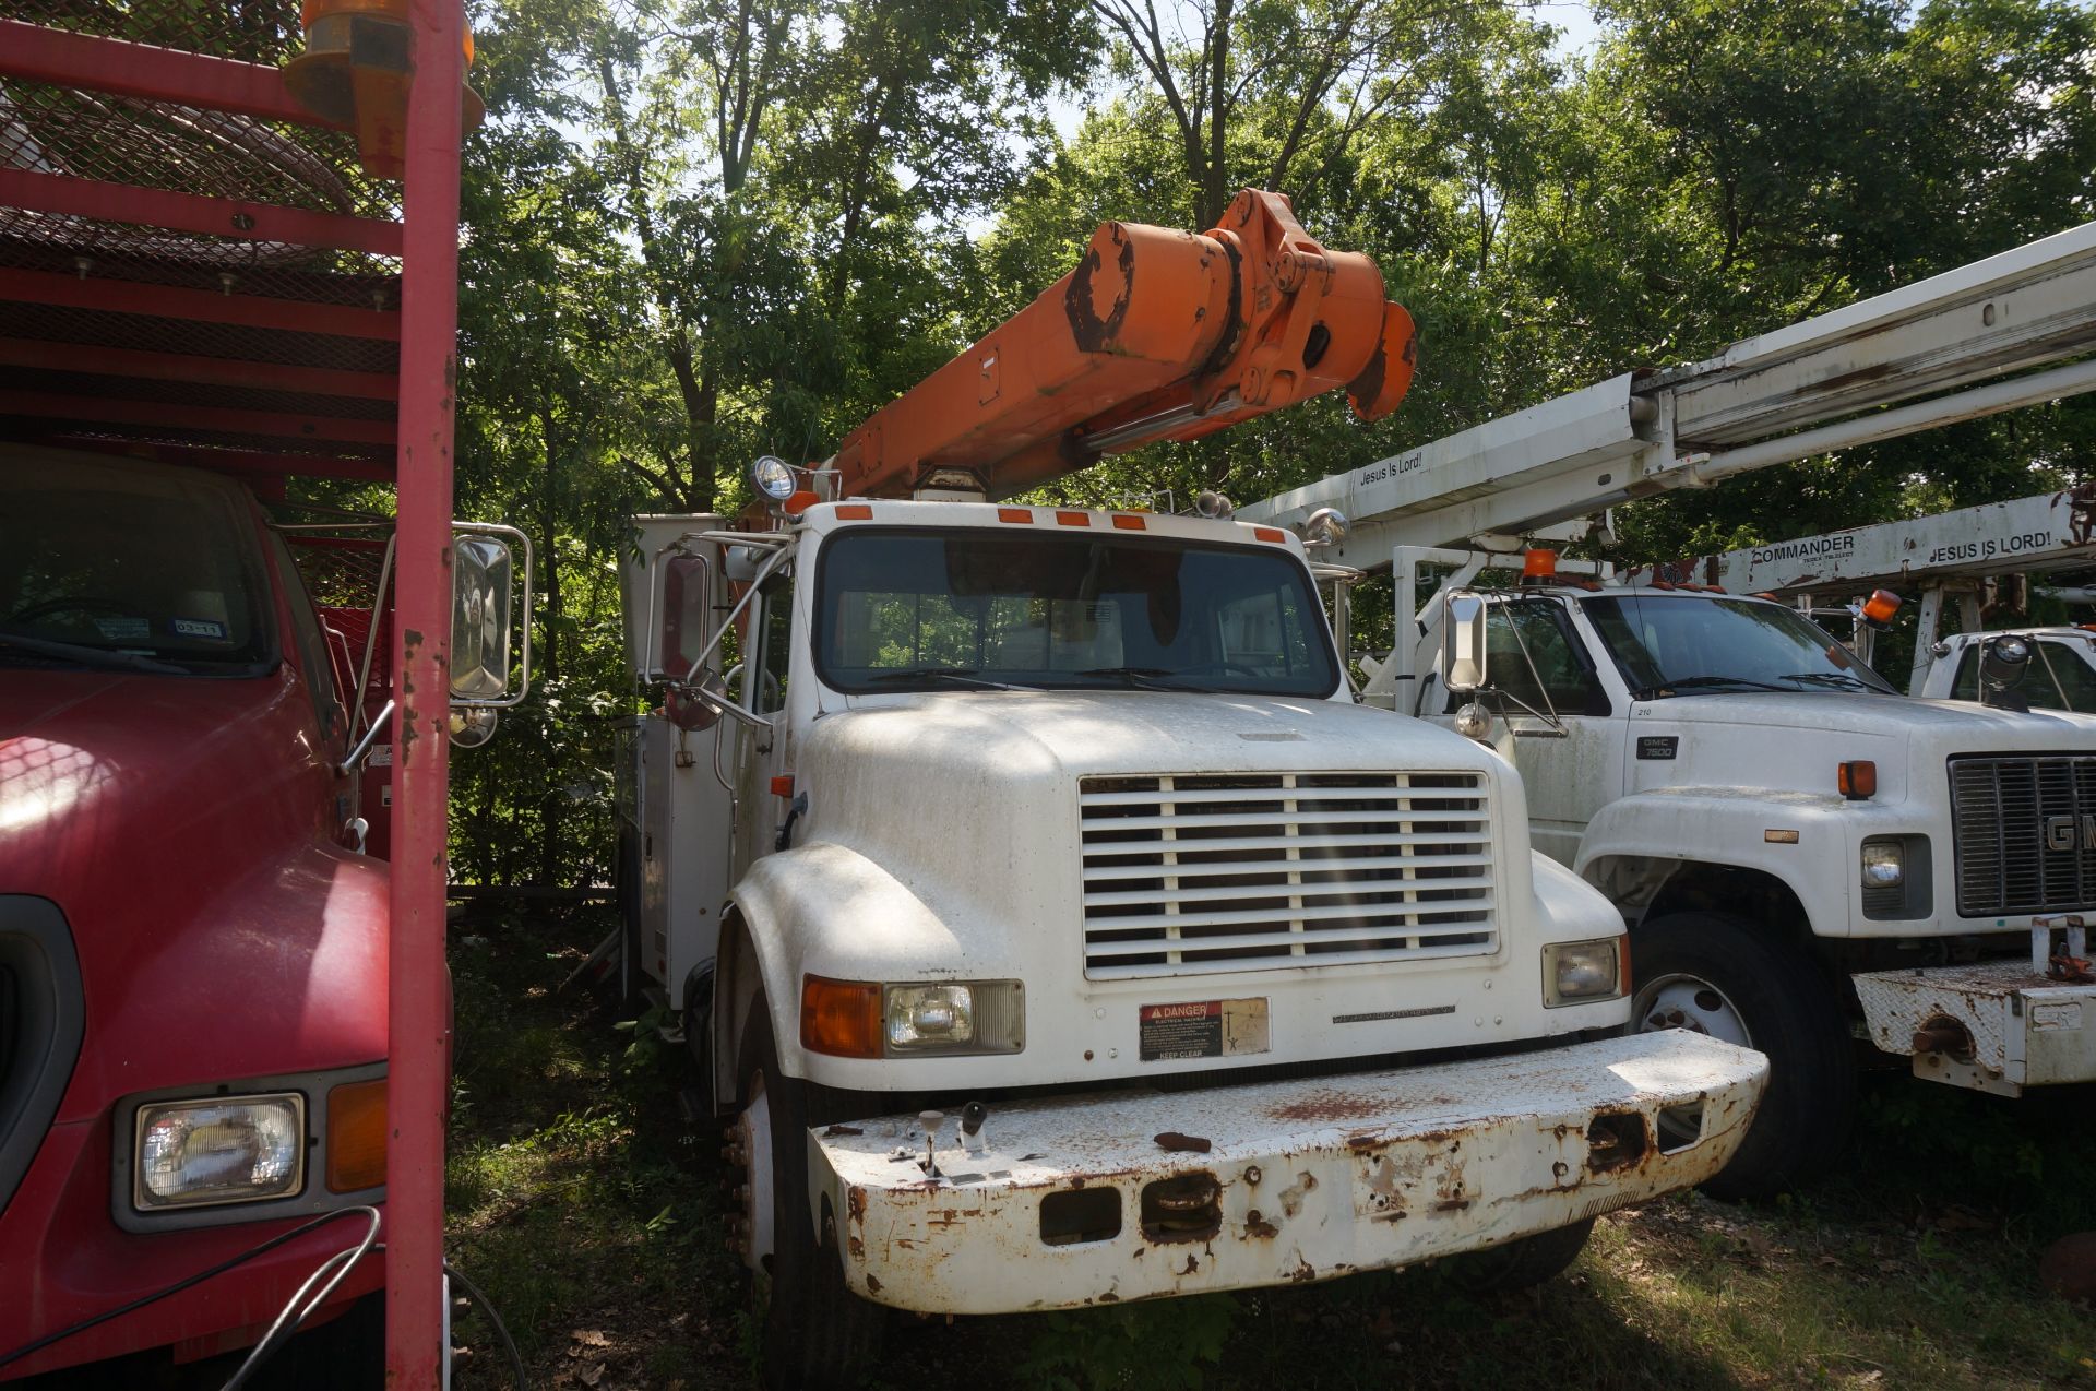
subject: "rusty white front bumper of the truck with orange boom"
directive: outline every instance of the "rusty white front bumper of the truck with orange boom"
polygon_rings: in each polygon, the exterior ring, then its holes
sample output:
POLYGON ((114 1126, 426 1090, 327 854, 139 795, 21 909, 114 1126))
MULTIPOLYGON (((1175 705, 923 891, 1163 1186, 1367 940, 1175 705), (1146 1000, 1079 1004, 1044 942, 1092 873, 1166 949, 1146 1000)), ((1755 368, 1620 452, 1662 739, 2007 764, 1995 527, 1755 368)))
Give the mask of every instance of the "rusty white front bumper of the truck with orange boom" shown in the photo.
POLYGON ((1700 1184, 1738 1150, 1765 1077, 1761 1054, 1666 1031, 1392 1073, 1014 1102, 989 1110, 975 1152, 947 1121, 937 1175, 924 1127, 887 1117, 809 1131, 811 1200, 828 1205, 847 1284, 924 1313, 1327 1280, 1700 1184), (1658 1112, 1683 1106, 1702 1108, 1700 1133, 1662 1150, 1658 1112))

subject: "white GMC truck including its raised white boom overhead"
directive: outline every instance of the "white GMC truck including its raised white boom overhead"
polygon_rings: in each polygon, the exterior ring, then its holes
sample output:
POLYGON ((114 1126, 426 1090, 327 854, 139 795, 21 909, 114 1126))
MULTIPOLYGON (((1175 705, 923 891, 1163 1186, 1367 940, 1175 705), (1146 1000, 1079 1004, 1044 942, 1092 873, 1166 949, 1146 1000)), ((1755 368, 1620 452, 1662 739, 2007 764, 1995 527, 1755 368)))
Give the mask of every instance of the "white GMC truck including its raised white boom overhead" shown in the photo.
POLYGON ((1350 515, 1329 561, 1388 566, 1404 614, 1440 576, 1364 662, 1367 698, 1520 769, 1536 848, 1631 928, 1639 1029, 1769 1056, 1712 1192, 1830 1163, 1859 1043, 2010 1096, 2096 1079, 2096 719, 1909 700, 1691 564, 1622 582, 1532 547, 1606 536, 1629 499, 2086 392, 2092 346, 2096 224, 1239 513, 1350 515))

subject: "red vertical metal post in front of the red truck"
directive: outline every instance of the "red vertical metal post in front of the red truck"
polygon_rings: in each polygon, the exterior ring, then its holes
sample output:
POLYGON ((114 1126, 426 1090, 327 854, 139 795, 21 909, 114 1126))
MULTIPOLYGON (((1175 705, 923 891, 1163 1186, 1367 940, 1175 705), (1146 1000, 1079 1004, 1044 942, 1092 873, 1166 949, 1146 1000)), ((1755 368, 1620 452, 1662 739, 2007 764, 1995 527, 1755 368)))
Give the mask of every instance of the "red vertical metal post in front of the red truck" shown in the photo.
POLYGON ((444 811, 451 427, 459 377, 459 86, 465 10, 411 0, 415 84, 400 214, 400 520, 386 1150, 386 1385, 438 1385, 444 1261, 444 811))

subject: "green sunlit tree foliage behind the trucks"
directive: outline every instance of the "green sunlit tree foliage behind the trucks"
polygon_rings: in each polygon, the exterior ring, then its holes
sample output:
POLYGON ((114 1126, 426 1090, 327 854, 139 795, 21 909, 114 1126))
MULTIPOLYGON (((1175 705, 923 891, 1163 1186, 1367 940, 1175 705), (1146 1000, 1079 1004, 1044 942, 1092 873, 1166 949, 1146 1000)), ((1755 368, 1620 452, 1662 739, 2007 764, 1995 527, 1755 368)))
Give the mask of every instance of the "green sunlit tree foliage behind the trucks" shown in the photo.
MULTIPOLYGON (((1237 499, 1696 360, 2096 216, 2069 0, 488 0, 461 513, 539 540, 543 681, 461 754, 461 874, 604 878, 635 511, 746 501, 1065 274, 1107 218, 1276 186, 1423 329, 1406 404, 1159 446, 1048 496, 1237 499)), ((2062 402, 1631 507, 1650 559, 2096 471, 2062 402)))

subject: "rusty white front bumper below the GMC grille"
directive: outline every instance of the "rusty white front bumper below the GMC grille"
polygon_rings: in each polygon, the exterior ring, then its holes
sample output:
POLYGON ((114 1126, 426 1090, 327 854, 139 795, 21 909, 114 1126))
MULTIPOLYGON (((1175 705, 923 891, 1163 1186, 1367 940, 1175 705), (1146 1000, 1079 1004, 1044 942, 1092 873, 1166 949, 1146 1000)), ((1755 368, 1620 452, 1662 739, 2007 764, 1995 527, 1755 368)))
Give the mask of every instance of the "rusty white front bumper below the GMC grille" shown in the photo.
MULTIPOLYGON (((1977 962, 1853 976, 1870 1041, 1909 1054, 1914 1075, 1953 1087, 2023 1096, 2025 1087, 2096 1081, 2096 985, 2044 974, 2050 930, 2033 959, 1977 962)), ((2081 930, 2069 955, 2081 955, 2081 930)))

